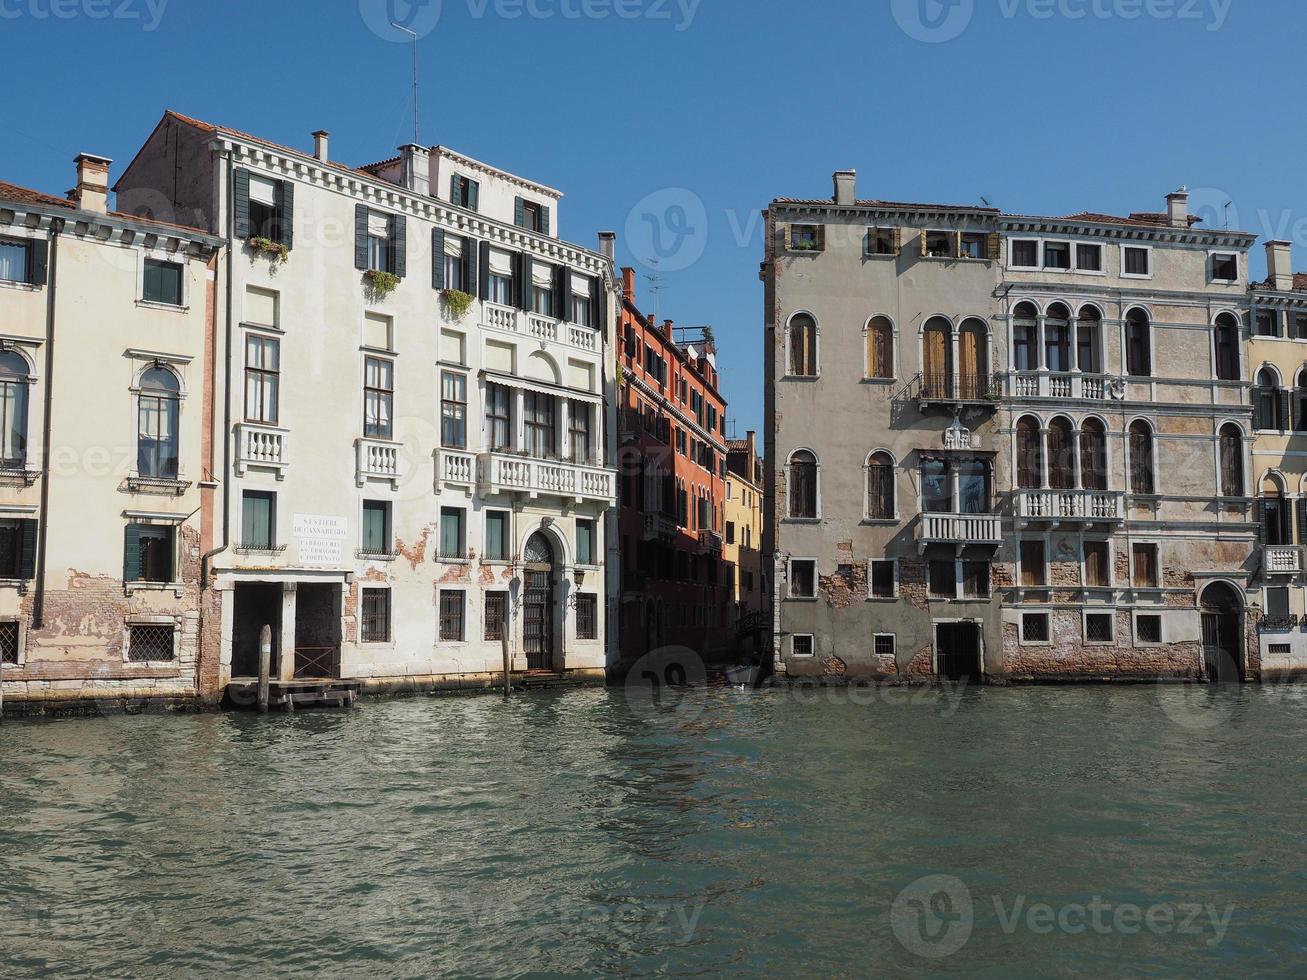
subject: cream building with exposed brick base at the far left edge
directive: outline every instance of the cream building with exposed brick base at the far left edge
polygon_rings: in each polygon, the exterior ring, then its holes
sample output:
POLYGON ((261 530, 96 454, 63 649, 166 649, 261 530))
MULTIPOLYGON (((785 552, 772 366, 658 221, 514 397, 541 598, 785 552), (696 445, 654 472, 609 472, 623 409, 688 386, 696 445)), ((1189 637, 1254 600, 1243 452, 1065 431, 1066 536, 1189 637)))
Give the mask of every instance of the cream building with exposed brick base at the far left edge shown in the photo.
MULTIPOLYGON (((20 702, 193 699, 213 537, 220 242, 0 183, 0 681, 20 702)), ((20 706, 20 710, 22 707, 20 706)))

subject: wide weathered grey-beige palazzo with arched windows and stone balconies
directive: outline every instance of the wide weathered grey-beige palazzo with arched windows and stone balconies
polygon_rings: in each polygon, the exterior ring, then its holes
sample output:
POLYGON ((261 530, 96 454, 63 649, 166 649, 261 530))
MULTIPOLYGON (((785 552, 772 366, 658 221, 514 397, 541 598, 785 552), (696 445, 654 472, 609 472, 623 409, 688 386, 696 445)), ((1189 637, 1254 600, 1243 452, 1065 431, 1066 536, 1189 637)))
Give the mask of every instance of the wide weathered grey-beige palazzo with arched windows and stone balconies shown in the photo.
POLYGON ((778 199, 766 540, 789 677, 1252 677, 1253 238, 778 199))

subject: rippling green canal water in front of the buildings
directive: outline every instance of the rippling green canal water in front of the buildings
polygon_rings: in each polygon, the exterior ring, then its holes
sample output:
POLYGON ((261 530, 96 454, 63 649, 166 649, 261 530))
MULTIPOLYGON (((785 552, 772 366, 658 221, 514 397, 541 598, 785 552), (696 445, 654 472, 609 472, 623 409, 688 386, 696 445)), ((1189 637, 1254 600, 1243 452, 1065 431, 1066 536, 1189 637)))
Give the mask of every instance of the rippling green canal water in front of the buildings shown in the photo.
POLYGON ((1304 691, 7 721, 0 975, 1302 973, 1304 691))

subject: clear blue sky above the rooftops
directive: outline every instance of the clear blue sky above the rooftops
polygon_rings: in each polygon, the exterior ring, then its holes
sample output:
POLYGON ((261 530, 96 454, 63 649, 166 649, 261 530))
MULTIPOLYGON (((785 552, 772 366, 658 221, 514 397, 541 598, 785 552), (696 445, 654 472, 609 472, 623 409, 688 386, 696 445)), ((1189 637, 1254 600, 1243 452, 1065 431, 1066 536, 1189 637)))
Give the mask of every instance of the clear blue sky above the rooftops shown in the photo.
MULTIPOLYGON (((1230 201, 1307 244, 1300 0, 391 1, 425 31, 423 142, 565 191, 565 238, 614 229, 642 273, 657 250, 639 303, 714 327, 740 434, 762 421, 758 212, 829 196, 833 170, 1044 214, 1188 184, 1209 221, 1230 201)), ((412 103, 409 50, 370 26, 386 4, 0 0, 0 179, 61 193, 80 150, 116 174, 165 107, 389 155, 412 103)))

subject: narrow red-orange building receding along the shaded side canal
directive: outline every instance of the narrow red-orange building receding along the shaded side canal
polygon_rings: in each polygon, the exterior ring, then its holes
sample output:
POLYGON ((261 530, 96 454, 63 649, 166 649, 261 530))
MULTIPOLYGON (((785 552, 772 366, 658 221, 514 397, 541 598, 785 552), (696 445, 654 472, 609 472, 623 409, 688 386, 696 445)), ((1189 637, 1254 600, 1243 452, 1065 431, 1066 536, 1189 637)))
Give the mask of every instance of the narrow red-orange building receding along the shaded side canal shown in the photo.
POLYGON ((731 649, 735 570, 723 561, 727 404, 711 335, 678 344, 635 306, 622 269, 620 652, 630 662, 684 645, 731 649))

